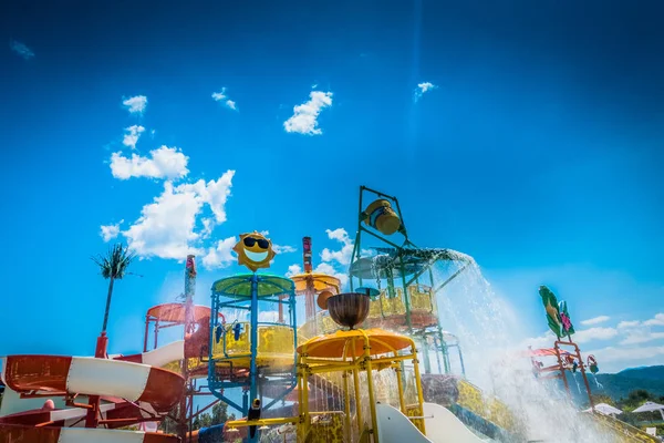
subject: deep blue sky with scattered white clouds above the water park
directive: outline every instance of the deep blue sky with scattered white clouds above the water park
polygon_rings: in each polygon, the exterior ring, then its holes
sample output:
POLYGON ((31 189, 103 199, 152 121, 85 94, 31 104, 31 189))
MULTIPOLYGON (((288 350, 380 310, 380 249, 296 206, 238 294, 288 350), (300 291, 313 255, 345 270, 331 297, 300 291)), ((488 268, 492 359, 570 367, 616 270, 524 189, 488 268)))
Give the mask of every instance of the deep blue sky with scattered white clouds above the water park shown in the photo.
POLYGON ((274 272, 304 235, 343 270, 364 184, 475 257, 522 338, 547 284, 602 370, 664 361, 662 7, 361 3, 3 4, 0 354, 92 353, 102 226, 145 258, 111 313, 132 352, 187 251, 203 303, 248 230, 274 272))

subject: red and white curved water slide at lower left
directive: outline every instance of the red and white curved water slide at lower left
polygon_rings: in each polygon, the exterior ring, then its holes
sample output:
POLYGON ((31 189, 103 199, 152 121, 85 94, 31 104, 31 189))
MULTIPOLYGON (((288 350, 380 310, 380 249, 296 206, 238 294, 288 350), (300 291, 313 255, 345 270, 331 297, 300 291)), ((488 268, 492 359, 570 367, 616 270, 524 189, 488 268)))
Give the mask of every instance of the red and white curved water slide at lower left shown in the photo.
MULTIPOLYGON (((157 365, 180 360, 183 353, 184 342, 180 341, 147 356, 142 354, 141 360, 152 364, 89 357, 10 356, 2 359, 2 382, 9 389, 28 395, 39 393, 70 399, 79 394, 98 395, 105 401, 100 408, 100 423, 121 427, 158 418, 181 399, 184 379, 157 365)), ((0 418, 0 441, 177 442, 177 437, 160 433, 70 427, 83 426, 86 412, 84 408, 44 408, 6 415, 0 418)))

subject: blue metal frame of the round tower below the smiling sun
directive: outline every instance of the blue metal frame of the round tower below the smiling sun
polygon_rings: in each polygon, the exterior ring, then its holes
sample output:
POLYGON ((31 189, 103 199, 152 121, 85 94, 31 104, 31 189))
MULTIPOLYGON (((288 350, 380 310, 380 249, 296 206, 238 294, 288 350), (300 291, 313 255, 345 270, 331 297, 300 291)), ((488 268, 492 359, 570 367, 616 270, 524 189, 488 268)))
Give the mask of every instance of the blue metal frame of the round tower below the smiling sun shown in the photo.
MULTIPOLYGON (((291 371, 291 373, 288 375, 287 381, 290 381, 289 385, 284 389, 284 391, 278 395, 278 398, 272 399, 272 401, 266 405, 262 406, 263 410, 270 409, 273 404, 276 404, 277 402, 283 400, 286 398, 286 395, 288 395, 293 389, 295 389, 297 387, 297 368, 295 368, 295 362, 297 362, 297 346, 298 346, 298 328, 297 328, 297 318, 295 318, 295 285, 292 280, 288 279, 288 278, 283 278, 283 277, 277 277, 277 276, 266 276, 269 277, 270 280, 274 280, 274 279, 279 279, 282 281, 288 281, 287 285, 284 285, 284 287, 288 287, 287 290, 283 290, 283 288, 277 288, 274 286, 274 289, 278 289, 276 292, 273 293, 264 293, 262 296, 259 296, 259 288, 262 281, 264 281, 266 279, 263 279, 263 277, 261 277, 258 274, 251 274, 251 275, 246 275, 246 276, 234 276, 230 277, 232 279, 238 279, 238 282, 236 285, 231 285, 228 288, 225 288, 225 291, 216 291, 215 290, 215 286, 216 282, 212 285, 212 296, 211 296, 211 316, 210 316, 210 336, 209 336, 209 350, 208 350, 208 387, 210 392, 212 393, 212 395, 215 395, 217 399, 221 400, 222 402, 231 405, 232 408, 237 409, 238 411, 241 411, 243 415, 247 415, 248 411, 249 411, 249 403, 251 400, 258 398, 258 379, 259 379, 259 373, 258 373, 258 364, 257 364, 257 349, 258 349, 258 327, 259 326, 288 326, 290 328, 292 328, 293 330, 293 369, 291 371), (242 284, 247 284, 250 282, 250 293, 236 293, 232 292, 232 290, 242 285, 242 284), (284 298, 283 300, 279 300, 278 296, 288 296, 287 298, 284 298), (227 300, 222 300, 222 299, 227 299, 227 300), (259 301, 264 301, 264 302, 273 302, 273 303, 282 303, 282 305, 287 305, 288 306, 288 310, 289 310, 289 321, 288 323, 283 324, 283 323, 274 323, 274 322, 259 322, 258 321, 258 302, 259 301), (228 363, 230 365, 230 368, 232 368, 232 361, 238 359, 238 358, 247 358, 247 354, 245 356, 228 356, 228 353, 226 352, 226 332, 224 332, 224 358, 218 358, 215 359, 212 356, 212 350, 214 350, 214 346, 215 346, 215 329, 217 328, 217 326, 219 326, 219 311, 221 309, 248 309, 250 311, 250 319, 249 319, 249 326, 250 326, 250 332, 249 332, 249 340, 250 340, 250 363, 249 363, 249 379, 246 382, 238 382, 238 381, 232 381, 232 380, 225 380, 224 378, 219 378, 217 375, 217 364, 219 363, 228 363), (224 390, 225 389, 231 389, 231 388, 242 388, 243 389, 243 395, 242 395, 242 404, 239 405, 236 402, 234 402, 232 400, 228 399, 225 393, 224 390)), ((222 280, 219 280, 222 281, 222 280)), ((262 396, 262 395, 261 395, 262 396)), ((256 437, 253 440, 250 441, 258 441, 259 435, 257 434, 256 437)))

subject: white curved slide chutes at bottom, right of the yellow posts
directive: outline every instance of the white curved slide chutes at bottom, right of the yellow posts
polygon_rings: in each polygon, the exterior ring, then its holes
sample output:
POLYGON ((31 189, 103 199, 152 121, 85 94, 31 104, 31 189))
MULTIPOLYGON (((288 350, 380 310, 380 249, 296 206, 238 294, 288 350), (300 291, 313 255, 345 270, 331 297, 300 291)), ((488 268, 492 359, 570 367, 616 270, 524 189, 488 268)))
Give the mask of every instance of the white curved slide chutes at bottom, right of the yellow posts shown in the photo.
POLYGON ((378 440, 382 443, 485 443, 446 408, 424 403, 426 435, 400 410, 376 404, 378 440))

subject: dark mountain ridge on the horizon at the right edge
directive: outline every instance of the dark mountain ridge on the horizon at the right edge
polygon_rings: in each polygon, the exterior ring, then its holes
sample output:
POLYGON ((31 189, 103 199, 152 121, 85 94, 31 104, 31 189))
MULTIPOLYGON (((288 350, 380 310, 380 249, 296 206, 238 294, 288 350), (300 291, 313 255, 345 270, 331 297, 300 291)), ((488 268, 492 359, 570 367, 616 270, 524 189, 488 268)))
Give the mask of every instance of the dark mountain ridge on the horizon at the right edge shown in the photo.
MULTIPOLYGON (((592 392, 609 395, 614 400, 626 398, 637 389, 664 396, 664 365, 630 368, 618 373, 599 373, 595 377, 601 388, 589 380, 592 392)), ((593 375, 589 377, 592 378, 593 375)))

